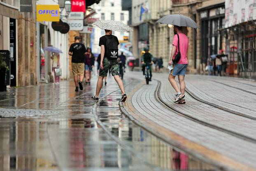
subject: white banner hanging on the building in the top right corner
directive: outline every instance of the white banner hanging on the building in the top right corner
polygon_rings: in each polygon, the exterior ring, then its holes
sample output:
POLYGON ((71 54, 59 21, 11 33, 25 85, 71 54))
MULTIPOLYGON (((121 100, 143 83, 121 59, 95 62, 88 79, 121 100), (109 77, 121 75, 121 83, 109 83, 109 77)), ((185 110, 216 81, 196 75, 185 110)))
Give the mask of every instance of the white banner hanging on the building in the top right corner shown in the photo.
POLYGON ((256 20, 256 0, 225 0, 225 27, 256 20))

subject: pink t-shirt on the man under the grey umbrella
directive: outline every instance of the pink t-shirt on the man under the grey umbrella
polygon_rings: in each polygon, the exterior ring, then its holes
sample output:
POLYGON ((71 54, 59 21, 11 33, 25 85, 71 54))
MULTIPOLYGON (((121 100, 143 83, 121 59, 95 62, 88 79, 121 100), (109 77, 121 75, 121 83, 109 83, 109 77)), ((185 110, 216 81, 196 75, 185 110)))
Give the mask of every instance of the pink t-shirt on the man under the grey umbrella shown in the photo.
POLYGON ((177 47, 175 55, 177 55, 178 51, 180 52, 180 60, 178 64, 188 64, 188 56, 187 56, 188 47, 189 47, 188 37, 183 33, 179 33, 179 49, 178 49, 178 46, 177 46, 178 36, 177 34, 175 34, 172 45, 177 47))

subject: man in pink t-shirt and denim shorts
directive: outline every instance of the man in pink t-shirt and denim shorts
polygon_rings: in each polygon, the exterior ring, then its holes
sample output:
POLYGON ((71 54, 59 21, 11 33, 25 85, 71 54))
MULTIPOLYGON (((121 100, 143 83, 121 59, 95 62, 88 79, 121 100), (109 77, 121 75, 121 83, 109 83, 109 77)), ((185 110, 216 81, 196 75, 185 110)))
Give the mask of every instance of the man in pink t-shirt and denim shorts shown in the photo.
POLYGON ((180 100, 183 100, 185 95, 185 74, 186 74, 186 68, 188 65, 188 47, 189 47, 189 39, 188 37, 182 33, 182 27, 174 26, 174 38, 172 42, 172 53, 170 56, 169 65, 173 65, 173 69, 169 73, 169 81, 172 84, 172 87, 175 89, 177 94, 175 95, 174 102, 179 102, 180 100), (178 35, 179 35, 179 43, 178 43, 178 35), (180 60, 177 62, 177 64, 173 64, 173 59, 175 59, 175 56, 177 55, 178 51, 180 52, 180 60), (179 78, 179 85, 178 87, 177 82, 175 81, 175 76, 178 75, 179 78))

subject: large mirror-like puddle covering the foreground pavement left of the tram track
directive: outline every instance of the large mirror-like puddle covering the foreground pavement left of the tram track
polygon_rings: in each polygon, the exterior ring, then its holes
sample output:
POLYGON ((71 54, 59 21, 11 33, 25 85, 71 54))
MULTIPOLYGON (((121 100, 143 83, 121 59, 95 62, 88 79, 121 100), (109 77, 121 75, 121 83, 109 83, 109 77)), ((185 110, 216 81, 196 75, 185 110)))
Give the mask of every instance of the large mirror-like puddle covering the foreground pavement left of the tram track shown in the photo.
POLYGON ((99 103, 97 116, 134 155, 95 121, 91 95, 61 103, 60 116, 0 118, 0 171, 218 170, 129 121, 119 110, 116 92, 99 103))

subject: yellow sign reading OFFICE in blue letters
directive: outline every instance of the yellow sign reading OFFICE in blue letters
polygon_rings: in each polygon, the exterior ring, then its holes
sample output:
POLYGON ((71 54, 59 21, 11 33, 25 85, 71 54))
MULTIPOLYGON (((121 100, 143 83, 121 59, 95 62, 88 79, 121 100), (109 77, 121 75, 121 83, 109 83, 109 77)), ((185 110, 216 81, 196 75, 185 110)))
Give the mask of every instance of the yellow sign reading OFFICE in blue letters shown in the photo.
POLYGON ((59 5, 37 5, 37 21, 60 21, 59 5))

